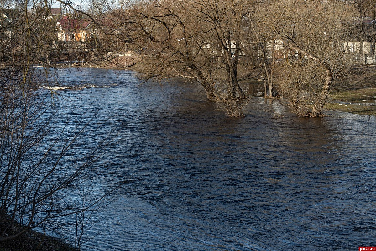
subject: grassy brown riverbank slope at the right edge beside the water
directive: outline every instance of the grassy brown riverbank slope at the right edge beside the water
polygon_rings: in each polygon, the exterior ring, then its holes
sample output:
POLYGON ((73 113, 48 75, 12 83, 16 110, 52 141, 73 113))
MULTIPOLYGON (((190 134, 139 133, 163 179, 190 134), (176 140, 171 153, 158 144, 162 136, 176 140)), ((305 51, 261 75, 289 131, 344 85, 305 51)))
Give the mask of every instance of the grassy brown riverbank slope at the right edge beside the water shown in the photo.
POLYGON ((326 110, 376 115, 376 67, 358 67, 330 95, 326 110))

